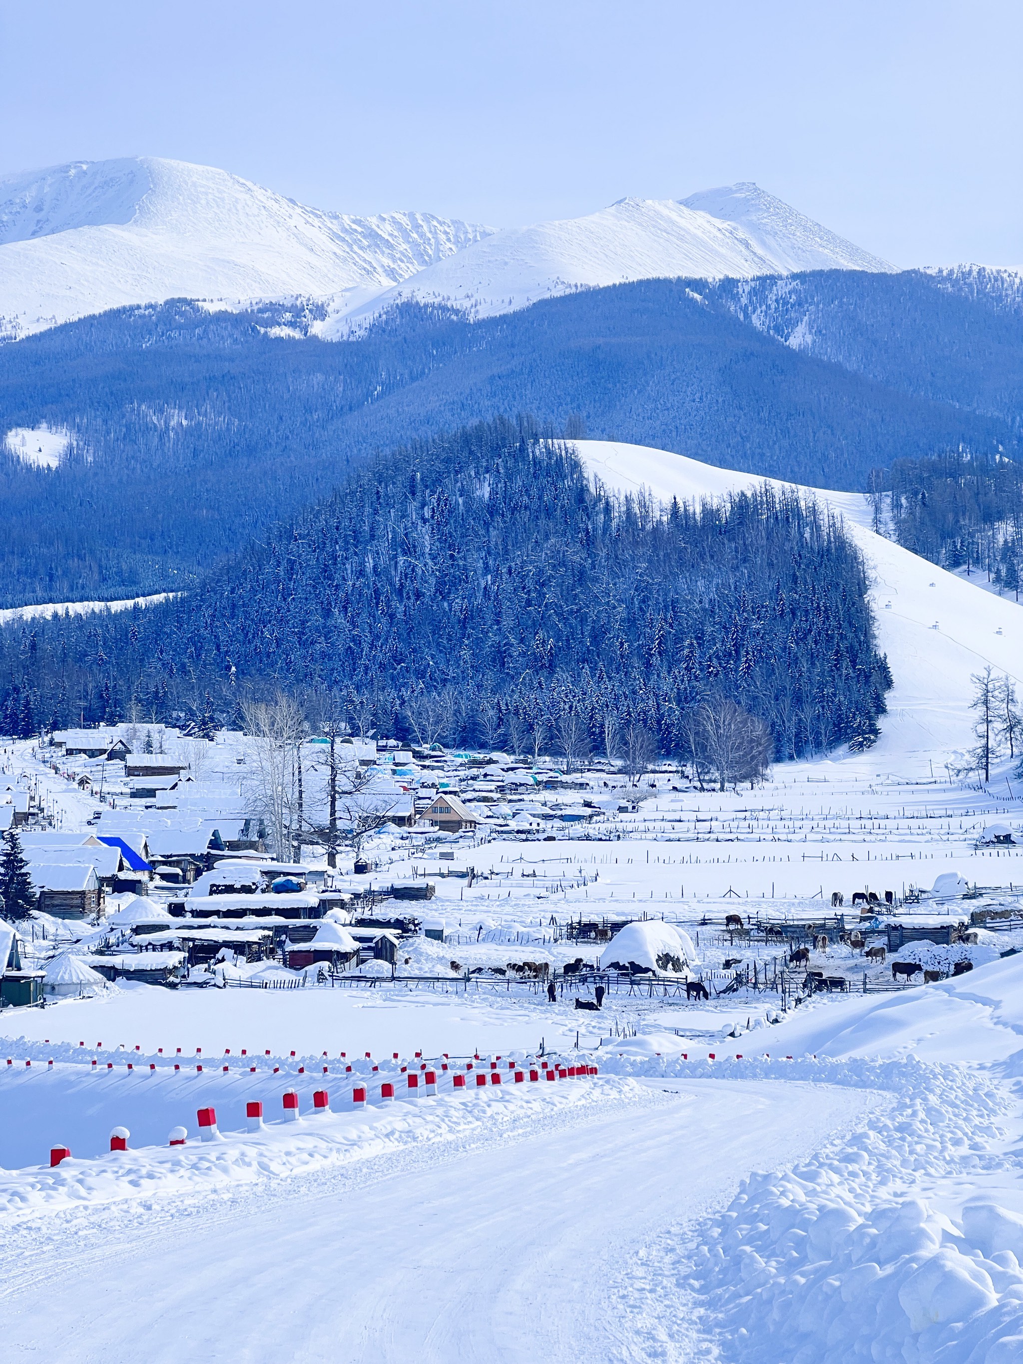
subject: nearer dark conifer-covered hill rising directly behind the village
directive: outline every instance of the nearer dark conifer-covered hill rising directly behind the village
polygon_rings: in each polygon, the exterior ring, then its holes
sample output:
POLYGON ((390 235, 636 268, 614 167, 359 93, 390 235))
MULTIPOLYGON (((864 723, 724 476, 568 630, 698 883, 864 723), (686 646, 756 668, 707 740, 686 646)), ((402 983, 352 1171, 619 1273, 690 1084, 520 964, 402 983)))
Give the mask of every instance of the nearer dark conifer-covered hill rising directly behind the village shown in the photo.
POLYGON ((0 732, 205 724, 286 686, 360 731, 521 750, 638 728, 682 752, 716 698, 788 757, 876 732, 891 678, 865 593, 840 525, 797 496, 618 502, 570 447, 495 421, 372 460, 176 602, 0 632, 0 732))

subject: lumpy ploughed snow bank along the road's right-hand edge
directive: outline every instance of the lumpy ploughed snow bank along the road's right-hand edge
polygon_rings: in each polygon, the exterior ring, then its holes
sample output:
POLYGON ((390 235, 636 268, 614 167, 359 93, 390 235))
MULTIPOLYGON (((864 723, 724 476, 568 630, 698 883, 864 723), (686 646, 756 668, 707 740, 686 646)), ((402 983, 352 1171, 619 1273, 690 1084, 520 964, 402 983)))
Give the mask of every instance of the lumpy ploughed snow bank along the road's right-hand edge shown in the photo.
MULTIPOLYGON (((1004 1159, 992 1142, 1005 1088, 958 1065, 919 1061, 607 1057, 619 1073, 728 1075, 887 1090, 862 1131, 786 1173, 753 1173, 730 1207, 659 1248, 683 1275, 705 1335, 743 1364, 1008 1364, 1023 1359, 1023 1217, 973 1198, 1004 1159), (958 1217, 907 1196, 925 1178, 958 1181, 958 1217), (1019 1254, 1018 1254, 1019 1252, 1019 1254)), ((649 1262, 645 1273, 652 1273, 649 1262)))

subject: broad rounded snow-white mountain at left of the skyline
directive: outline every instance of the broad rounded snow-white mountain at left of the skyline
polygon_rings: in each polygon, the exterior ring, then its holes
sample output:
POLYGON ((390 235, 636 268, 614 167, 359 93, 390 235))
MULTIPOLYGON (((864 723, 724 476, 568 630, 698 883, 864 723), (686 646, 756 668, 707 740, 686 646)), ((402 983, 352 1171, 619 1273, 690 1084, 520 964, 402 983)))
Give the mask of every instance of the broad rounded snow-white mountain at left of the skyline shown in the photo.
POLYGON ((170 297, 376 292, 490 231, 326 213, 184 161, 76 161, 0 179, 0 331, 170 297))

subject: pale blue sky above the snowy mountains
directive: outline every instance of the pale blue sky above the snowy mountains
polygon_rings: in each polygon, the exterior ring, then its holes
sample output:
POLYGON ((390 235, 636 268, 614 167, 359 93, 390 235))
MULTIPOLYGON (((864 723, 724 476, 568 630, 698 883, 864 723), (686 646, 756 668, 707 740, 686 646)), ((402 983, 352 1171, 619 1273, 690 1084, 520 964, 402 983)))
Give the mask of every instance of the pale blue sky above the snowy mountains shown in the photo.
POLYGON ((494 226, 756 180, 1023 265, 1015 0, 0 0, 0 173, 161 155, 494 226))

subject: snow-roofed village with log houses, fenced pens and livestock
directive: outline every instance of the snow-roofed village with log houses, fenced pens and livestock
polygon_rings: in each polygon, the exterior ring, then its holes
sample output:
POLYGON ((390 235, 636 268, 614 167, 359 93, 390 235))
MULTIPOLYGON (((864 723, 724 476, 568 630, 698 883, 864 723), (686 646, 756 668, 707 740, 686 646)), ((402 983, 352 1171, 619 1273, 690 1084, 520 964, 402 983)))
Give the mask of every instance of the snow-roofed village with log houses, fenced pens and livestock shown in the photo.
MULTIPOLYGON (((307 812, 325 747, 299 754, 307 812)), ((337 747, 360 827, 289 836, 284 859, 251 737, 123 724, 8 747, 0 821, 35 902, 3 1007, 119 982, 412 989, 705 1033, 716 1011, 906 989, 1023 945, 1023 839, 963 783, 818 762, 712 792, 668 764, 337 747)))

